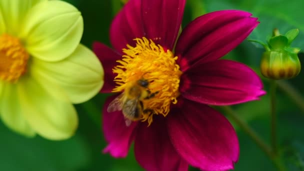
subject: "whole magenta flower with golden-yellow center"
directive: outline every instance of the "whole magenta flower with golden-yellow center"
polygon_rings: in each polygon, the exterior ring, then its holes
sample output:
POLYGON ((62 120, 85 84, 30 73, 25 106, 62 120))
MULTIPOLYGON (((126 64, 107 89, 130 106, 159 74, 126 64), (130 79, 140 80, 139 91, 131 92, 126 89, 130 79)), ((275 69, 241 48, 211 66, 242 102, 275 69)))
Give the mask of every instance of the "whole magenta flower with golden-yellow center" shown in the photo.
POLYGON ((257 18, 240 10, 215 11, 197 17, 178 36, 184 5, 185 0, 129 0, 110 27, 114 49, 93 44, 104 64, 101 92, 126 91, 122 108, 133 98, 128 97, 132 86, 147 85, 134 112, 108 112, 117 95, 106 100, 103 152, 125 157, 134 141, 135 158, 146 170, 187 170, 189 164, 231 169, 239 155, 236 133, 208 105, 241 103, 265 93, 249 67, 219 60, 247 37, 257 18), (143 84, 136 85, 138 80, 143 84), (132 117, 127 114, 138 114, 140 108, 140 119, 127 126, 123 115, 128 123, 132 117))

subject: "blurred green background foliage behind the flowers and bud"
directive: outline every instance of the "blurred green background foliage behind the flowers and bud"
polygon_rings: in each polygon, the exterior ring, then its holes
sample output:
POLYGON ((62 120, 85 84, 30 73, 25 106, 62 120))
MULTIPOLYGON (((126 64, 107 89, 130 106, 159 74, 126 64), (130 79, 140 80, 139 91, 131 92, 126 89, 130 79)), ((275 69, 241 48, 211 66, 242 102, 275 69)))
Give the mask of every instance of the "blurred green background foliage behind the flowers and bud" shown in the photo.
MULTIPOLYGON (((84 18, 84 33, 81 42, 88 47, 94 40, 109 45, 108 30, 115 13, 120 9, 120 0, 66 0, 75 5, 84 18)), ((265 40, 276 27, 282 33, 299 28, 300 34, 293 46, 304 49, 303 0, 188 0, 183 26, 196 16, 220 9, 243 9, 259 17, 260 25, 250 38, 265 40)), ((258 70, 263 49, 244 41, 224 58, 243 62, 258 70)), ((299 54, 304 63, 303 53, 299 54)), ((257 71, 258 72, 258 71, 257 71)), ((288 80, 297 94, 304 95, 303 71, 288 80)), ((264 79, 268 91, 268 81, 264 79)), ((49 141, 39 136, 26 138, 18 135, 0 122, 0 170, 143 170, 136 162, 132 148, 126 158, 114 159, 102 154, 105 147, 101 132, 101 108, 109 94, 97 94, 93 99, 75 105, 79 115, 76 134, 64 141, 49 141)), ((269 143, 270 118, 268 94, 259 101, 234 105, 238 115, 252 126, 269 143)), ((278 88, 278 138, 280 152, 288 170, 304 170, 304 110, 295 105, 284 91, 278 88)), ((223 113, 224 114, 224 113, 223 113)), ((233 122, 232 122, 233 123, 233 122)), ((239 161, 235 170, 276 170, 256 144, 241 129, 234 125, 240 144, 239 161)), ((196 170, 190 168, 190 170, 196 170)))

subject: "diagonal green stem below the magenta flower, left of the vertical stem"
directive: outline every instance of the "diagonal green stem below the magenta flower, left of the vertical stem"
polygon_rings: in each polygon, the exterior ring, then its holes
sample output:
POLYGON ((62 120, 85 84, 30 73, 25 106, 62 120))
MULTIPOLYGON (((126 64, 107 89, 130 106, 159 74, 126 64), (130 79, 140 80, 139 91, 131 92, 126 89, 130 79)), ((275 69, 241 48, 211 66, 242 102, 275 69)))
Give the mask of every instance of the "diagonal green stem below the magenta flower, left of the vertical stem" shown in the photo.
POLYGON ((221 108, 226 114, 228 114, 230 118, 252 138, 252 140, 257 144, 257 146, 259 146, 262 151, 264 151, 265 154, 270 158, 270 160, 273 162, 273 164, 278 170, 286 170, 279 156, 275 155, 271 151, 271 148, 257 135, 257 133, 246 122, 244 122, 241 118, 238 117, 238 115, 230 106, 220 106, 219 108, 221 108))

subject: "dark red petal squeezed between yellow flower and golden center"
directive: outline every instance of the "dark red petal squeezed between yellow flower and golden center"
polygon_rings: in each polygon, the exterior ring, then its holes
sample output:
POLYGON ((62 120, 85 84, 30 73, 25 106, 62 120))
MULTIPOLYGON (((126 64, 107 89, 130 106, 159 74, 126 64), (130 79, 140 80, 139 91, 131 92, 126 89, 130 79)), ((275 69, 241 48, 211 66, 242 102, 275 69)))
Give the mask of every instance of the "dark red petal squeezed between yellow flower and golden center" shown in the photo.
POLYGON ((116 85, 112 69, 118 64, 116 60, 121 59, 121 55, 99 42, 94 42, 92 48, 98 59, 104 64, 104 85, 100 92, 111 92, 116 85))

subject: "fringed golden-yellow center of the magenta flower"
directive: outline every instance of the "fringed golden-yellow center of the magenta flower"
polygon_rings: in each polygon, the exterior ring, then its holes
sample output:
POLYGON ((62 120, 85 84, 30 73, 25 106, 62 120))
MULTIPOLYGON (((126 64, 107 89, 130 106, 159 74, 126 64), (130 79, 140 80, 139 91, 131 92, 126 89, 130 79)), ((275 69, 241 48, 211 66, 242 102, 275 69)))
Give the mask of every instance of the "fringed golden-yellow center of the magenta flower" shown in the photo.
POLYGON ((127 48, 122 49, 125 55, 121 60, 117 60, 119 64, 113 68, 113 72, 117 73, 114 81, 118 85, 112 91, 129 90, 132 83, 146 80, 148 84, 142 88, 146 92, 142 94, 147 95, 145 98, 142 95, 137 98, 138 102, 143 104, 140 119, 147 120, 150 124, 153 114, 166 116, 170 104, 177 102, 179 77, 182 72, 175 62, 177 56, 170 50, 145 37, 134 40, 136 46, 127 44, 127 48))

